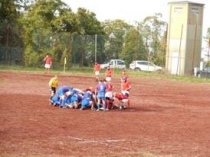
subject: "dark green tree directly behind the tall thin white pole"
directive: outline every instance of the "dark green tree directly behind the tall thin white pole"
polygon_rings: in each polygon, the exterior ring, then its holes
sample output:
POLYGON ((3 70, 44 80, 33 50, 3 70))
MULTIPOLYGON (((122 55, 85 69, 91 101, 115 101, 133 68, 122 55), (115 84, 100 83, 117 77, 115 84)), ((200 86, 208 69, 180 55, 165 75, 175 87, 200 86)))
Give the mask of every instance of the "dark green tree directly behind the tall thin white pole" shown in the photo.
MULTIPOLYGON (((74 40, 74 58, 73 60, 79 63, 80 66, 90 65, 95 57, 95 36, 97 35, 97 48, 103 49, 105 34, 101 23, 96 19, 96 15, 84 8, 79 8, 77 11, 78 20, 78 35, 74 40), (75 52, 76 51, 76 52, 75 52)), ((98 52, 99 56, 101 51, 98 52)))

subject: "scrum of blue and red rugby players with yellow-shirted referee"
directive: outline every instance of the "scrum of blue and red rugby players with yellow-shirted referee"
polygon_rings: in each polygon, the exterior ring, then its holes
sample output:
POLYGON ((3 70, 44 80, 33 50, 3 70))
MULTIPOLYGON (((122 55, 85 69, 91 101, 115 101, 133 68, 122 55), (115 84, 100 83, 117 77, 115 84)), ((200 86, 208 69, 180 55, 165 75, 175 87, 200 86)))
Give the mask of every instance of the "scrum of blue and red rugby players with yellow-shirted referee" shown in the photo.
POLYGON ((58 88, 58 77, 54 76, 49 81, 51 90, 50 104, 60 108, 75 108, 80 110, 91 109, 96 111, 108 111, 110 109, 125 109, 130 106, 129 91, 131 89, 128 75, 123 71, 121 79, 121 91, 113 92, 111 78, 98 78, 96 87, 88 87, 85 90, 70 87, 68 85, 58 88))

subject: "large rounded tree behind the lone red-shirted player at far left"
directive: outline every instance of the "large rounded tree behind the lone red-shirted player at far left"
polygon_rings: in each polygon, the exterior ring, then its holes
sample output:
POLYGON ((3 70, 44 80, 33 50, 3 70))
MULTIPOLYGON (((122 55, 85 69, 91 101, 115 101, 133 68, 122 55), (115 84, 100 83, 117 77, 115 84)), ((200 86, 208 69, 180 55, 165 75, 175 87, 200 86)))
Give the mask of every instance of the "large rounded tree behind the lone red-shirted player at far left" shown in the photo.
POLYGON ((55 61, 61 62, 62 53, 66 54, 69 47, 68 38, 78 30, 76 15, 61 0, 37 0, 20 21, 25 65, 40 65, 45 53, 51 53, 55 61))

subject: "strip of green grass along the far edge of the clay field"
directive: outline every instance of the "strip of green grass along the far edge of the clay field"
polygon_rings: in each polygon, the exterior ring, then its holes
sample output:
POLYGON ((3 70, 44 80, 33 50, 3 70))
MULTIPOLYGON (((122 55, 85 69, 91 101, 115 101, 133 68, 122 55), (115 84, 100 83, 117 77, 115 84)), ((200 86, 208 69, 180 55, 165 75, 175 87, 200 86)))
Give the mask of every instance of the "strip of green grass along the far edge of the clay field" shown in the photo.
MULTIPOLYGON (((23 67, 23 66, 6 66, 0 65, 1 71, 18 71, 18 72, 33 72, 33 73, 43 73, 44 68, 40 67, 23 67)), ((105 72, 104 69, 101 70, 101 74, 105 72)), ((195 76, 185 75, 170 75, 164 72, 142 72, 142 71, 133 71, 130 69, 126 69, 126 72, 132 78, 156 78, 156 79, 171 79, 176 81, 183 81, 183 82, 192 82, 192 83, 210 83, 210 79, 206 78, 198 78, 195 76)), ((93 76, 93 68, 90 67, 72 67, 64 69, 51 69, 52 74, 63 74, 63 75, 86 75, 86 76, 93 76)), ((121 69, 114 69, 115 76, 121 76, 122 70, 121 69)))

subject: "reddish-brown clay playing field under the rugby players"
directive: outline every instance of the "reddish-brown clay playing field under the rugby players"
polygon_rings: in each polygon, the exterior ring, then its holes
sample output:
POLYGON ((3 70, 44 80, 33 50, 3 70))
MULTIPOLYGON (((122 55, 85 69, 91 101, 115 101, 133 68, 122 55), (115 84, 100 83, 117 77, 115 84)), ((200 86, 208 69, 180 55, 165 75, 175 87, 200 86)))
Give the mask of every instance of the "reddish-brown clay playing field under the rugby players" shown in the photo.
MULTIPOLYGON (((50 106, 51 77, 0 72, 0 156, 210 156, 208 84, 131 78, 130 109, 95 112, 50 106)), ((81 89, 93 80, 59 75, 81 89)))

